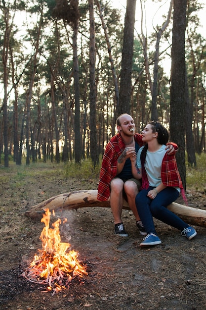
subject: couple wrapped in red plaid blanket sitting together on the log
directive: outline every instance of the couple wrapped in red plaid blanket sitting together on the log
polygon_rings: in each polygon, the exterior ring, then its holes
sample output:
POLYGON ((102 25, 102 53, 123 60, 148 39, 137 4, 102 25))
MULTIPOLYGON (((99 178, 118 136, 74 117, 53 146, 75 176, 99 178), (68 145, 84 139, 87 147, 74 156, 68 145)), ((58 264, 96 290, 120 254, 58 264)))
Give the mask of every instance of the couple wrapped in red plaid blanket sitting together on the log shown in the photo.
POLYGON ((97 194, 99 201, 110 197, 115 234, 128 236, 121 218, 125 198, 140 234, 145 236, 140 247, 161 244, 153 217, 191 240, 196 230, 167 208, 180 192, 186 202, 175 159, 178 148, 167 143, 168 131, 161 123, 150 121, 142 134, 135 133, 134 120, 126 113, 118 117, 116 125, 118 134, 108 142, 103 155, 97 194))

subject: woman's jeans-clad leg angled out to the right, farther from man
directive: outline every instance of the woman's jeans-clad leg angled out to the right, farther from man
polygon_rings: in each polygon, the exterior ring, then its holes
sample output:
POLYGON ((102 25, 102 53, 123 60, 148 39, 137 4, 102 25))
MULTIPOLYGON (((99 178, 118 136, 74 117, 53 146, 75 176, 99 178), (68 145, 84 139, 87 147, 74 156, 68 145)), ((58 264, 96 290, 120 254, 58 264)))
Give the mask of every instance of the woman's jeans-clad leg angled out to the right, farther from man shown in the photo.
POLYGON ((155 218, 182 231, 184 228, 189 227, 189 225, 167 209, 167 206, 174 202, 178 196, 179 192, 175 188, 166 187, 155 199, 151 200, 150 210, 155 218))

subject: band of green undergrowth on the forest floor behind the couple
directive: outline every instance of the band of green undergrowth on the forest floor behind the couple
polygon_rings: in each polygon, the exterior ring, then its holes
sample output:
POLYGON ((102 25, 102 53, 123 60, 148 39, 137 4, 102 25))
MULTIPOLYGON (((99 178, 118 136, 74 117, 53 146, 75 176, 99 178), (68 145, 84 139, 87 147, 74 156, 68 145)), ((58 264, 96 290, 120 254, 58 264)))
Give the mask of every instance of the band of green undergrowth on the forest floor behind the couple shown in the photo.
MULTIPOLYGON (((186 161, 186 186, 187 190, 199 190, 206 193, 206 154, 196 154, 197 166, 191 167, 186 161)), ((10 180, 10 186, 18 188, 23 186, 26 182, 32 181, 34 178, 42 177, 47 179, 54 179, 56 176, 62 176, 62 179, 76 178, 82 180, 98 179, 101 165, 101 158, 99 164, 94 168, 91 159, 82 160, 81 164, 75 161, 67 163, 52 163, 50 161, 37 161, 26 165, 18 166, 14 162, 9 162, 9 167, 0 166, 0 184, 10 180)))

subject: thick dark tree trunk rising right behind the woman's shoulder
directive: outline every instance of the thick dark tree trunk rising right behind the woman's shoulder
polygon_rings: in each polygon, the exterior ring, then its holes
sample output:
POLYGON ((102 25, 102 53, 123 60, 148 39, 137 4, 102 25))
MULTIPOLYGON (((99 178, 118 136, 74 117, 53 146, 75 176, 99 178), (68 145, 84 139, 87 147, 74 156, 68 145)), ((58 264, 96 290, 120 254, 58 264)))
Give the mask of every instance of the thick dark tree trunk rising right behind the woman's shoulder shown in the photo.
POLYGON ((174 0, 171 91, 170 91, 170 140, 177 143, 177 165, 186 188, 185 169, 185 29, 187 0, 174 0))

